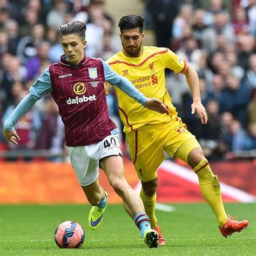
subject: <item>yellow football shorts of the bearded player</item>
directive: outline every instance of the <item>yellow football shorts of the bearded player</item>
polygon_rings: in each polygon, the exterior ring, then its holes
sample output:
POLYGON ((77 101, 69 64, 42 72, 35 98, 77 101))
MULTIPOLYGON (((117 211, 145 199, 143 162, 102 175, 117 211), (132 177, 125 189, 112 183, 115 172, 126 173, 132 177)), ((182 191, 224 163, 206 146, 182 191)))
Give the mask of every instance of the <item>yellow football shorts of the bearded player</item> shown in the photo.
POLYGON ((157 177, 157 169, 165 159, 164 151, 187 162, 188 154, 201 147, 179 117, 169 123, 145 125, 130 131, 126 139, 138 177, 144 182, 157 177), (181 146, 184 147, 179 150, 182 156, 178 156, 176 152, 181 146))

